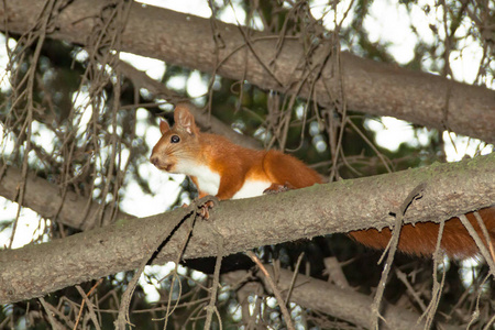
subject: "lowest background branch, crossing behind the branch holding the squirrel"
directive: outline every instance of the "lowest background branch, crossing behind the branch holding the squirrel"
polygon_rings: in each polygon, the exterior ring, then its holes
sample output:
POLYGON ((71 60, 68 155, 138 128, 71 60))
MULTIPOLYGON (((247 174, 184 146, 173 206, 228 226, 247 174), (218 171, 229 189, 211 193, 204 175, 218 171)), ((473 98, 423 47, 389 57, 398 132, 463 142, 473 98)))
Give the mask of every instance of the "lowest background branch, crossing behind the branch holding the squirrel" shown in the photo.
MULTIPOLYGON (((14 200, 16 187, 20 182, 20 170, 14 167, 9 167, 7 169, 6 177, 2 182, 0 182, 0 195, 14 200)), ((77 220, 78 217, 81 217, 80 212, 77 212, 77 210, 82 208, 86 205, 86 201, 81 200, 80 197, 73 196, 73 194, 74 193, 69 193, 66 196, 67 201, 66 204, 64 204, 63 210, 56 218, 57 221, 73 228, 79 228, 81 230, 89 230, 94 228, 96 221, 91 216, 88 216, 86 218, 86 221, 82 219, 77 220)), ((46 182, 43 178, 30 175, 26 180, 26 195, 24 200, 32 209, 42 215, 44 218, 53 219, 53 215, 56 213, 57 206, 62 202, 62 197, 59 196, 59 189, 57 186, 46 182), (43 191, 44 194, 38 194, 40 191, 43 191), (40 196, 44 196, 45 198, 40 198, 40 196), (50 197, 50 200, 47 200, 46 197, 50 197)), ((95 210, 91 210, 89 212, 90 215, 96 213, 98 206, 92 205, 92 208, 95 208, 95 210)), ((123 216, 124 215, 122 213, 121 217, 123 216)), ((168 224, 170 223, 167 222, 166 228, 168 228, 169 231, 168 224)), ((165 227, 162 229, 165 231, 165 227)), ((245 273, 245 271, 229 273, 223 275, 223 279, 227 280, 228 284, 232 285, 233 283, 241 279, 245 273)), ((282 289, 286 289, 290 285, 292 273, 289 271, 279 270, 279 274, 280 276, 278 277, 278 285, 282 289)), ((0 289, 2 287, 0 284, 0 289)), ((370 297, 358 294, 355 292, 344 290, 330 285, 327 282, 299 275, 298 283, 296 283, 296 289, 292 294, 292 301, 366 327, 367 324, 365 323, 365 321, 367 320, 367 314, 360 314, 359 316, 356 316, 354 312, 355 308, 351 308, 351 306, 355 307, 367 304, 365 305, 367 310, 372 300, 370 297), (318 300, 316 300, 316 296, 312 296, 314 290, 317 290, 318 293, 326 292, 327 294, 319 295, 318 300)), ((419 316, 407 310, 389 306, 387 307, 384 317, 389 324, 393 324, 395 327, 397 324, 414 326, 419 316)), ((394 329, 394 327, 392 327, 392 329, 394 329)), ((395 327, 395 329, 398 328, 395 327)))

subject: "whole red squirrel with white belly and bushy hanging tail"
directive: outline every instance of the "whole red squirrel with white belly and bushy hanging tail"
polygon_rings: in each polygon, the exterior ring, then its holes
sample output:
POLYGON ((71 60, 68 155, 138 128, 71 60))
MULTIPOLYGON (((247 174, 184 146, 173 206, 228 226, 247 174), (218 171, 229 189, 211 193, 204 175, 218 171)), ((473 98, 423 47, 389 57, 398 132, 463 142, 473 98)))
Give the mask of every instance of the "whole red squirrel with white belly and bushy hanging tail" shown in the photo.
MULTIPOLYGON (((255 151, 233 144, 228 139, 199 132, 186 105, 178 105, 175 125, 161 121, 162 138, 153 147, 150 161, 157 168, 186 174, 196 185, 199 197, 216 196, 219 200, 249 198, 280 188, 304 188, 323 183, 322 177, 299 160, 277 151, 255 151)), ((480 210, 491 239, 495 242, 495 207, 480 210)), ((473 213, 466 215, 481 238, 483 233, 473 213)), ((439 224, 421 222, 403 226, 398 250, 408 254, 432 255, 439 224)), ((385 249, 392 231, 384 228, 349 233, 358 242, 385 249)), ((450 256, 470 257, 479 249, 458 218, 446 222, 442 250, 450 256)))

